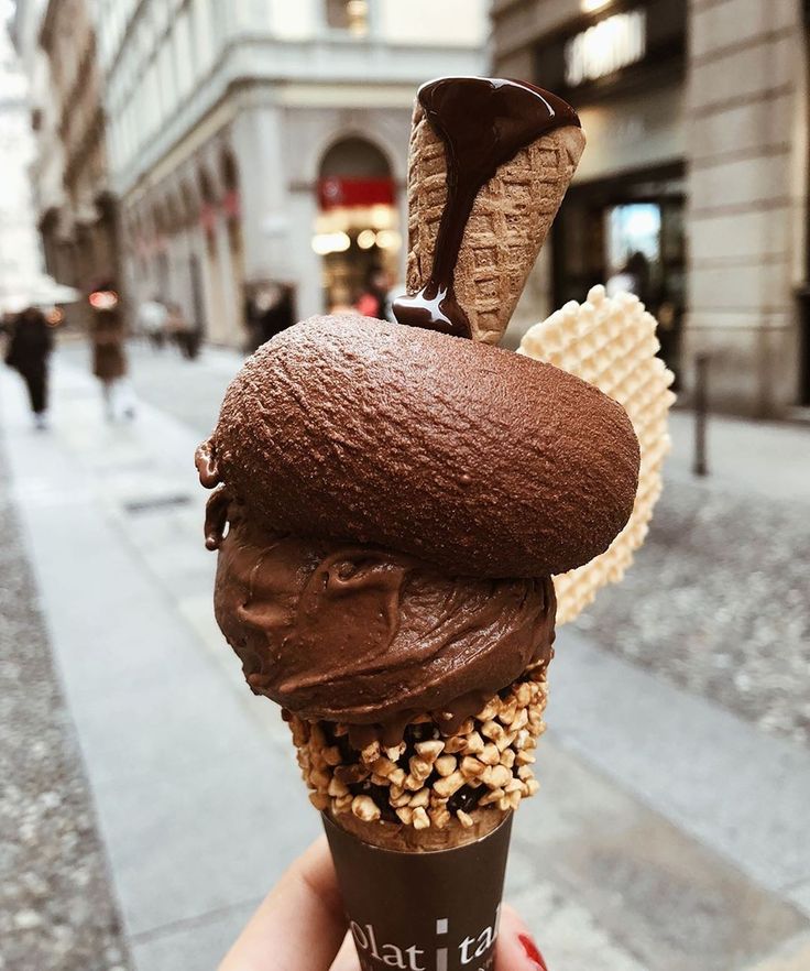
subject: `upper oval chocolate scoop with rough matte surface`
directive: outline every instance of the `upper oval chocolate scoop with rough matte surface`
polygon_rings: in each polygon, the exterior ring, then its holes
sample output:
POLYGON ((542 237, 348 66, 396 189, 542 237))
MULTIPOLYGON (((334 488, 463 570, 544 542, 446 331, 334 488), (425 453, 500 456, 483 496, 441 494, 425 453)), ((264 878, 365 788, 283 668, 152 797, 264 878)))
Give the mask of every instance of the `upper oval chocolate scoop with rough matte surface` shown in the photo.
POLYGON ((206 480, 269 530, 370 543, 450 576, 543 577, 608 548, 638 443, 598 389, 499 348, 313 317, 226 393, 206 480))

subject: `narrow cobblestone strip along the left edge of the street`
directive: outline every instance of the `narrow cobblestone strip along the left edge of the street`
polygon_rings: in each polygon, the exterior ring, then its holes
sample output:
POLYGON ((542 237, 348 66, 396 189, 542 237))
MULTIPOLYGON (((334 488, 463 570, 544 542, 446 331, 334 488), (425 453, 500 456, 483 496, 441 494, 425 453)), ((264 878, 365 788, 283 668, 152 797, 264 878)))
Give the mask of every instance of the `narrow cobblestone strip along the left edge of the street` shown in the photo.
POLYGON ((0 969, 124 971, 90 796, 0 441, 0 969))

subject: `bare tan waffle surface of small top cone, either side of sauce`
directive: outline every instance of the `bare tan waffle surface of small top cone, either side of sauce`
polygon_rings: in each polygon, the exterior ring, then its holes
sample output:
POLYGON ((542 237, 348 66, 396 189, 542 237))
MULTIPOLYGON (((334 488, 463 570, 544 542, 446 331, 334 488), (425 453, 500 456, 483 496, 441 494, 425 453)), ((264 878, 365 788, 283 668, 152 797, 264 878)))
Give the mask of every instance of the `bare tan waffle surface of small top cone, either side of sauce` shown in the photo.
MULTIPOLYGON (((453 277, 474 340, 497 343, 503 336, 583 148, 581 129, 555 129, 501 165, 478 194, 453 277)), ((446 198, 445 145, 417 103, 408 162, 409 293, 430 276, 446 198)))

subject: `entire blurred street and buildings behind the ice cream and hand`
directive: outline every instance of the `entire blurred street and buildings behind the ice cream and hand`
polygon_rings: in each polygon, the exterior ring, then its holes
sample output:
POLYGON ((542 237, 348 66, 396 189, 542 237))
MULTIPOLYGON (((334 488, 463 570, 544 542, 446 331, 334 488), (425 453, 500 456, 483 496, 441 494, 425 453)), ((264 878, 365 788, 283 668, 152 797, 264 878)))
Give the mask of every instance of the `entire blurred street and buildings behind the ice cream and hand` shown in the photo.
POLYGON ((214 621, 191 458, 245 352, 387 314, 442 74, 589 138, 506 343, 614 281, 679 393, 647 543, 560 631, 507 898, 549 971, 810 968, 808 4, 0 17, 0 971, 214 969, 318 832, 214 621))

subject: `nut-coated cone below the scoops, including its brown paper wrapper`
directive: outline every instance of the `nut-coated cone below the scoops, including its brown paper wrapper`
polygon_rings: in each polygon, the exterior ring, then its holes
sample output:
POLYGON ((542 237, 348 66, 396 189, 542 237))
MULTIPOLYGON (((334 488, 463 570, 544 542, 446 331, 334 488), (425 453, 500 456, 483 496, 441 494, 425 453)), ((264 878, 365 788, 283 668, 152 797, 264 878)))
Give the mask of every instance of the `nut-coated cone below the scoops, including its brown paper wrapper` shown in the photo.
POLYGON ((538 788, 546 697, 544 664, 456 731, 425 713, 391 746, 352 748, 349 725, 289 718, 363 971, 491 967, 513 810, 538 788))

